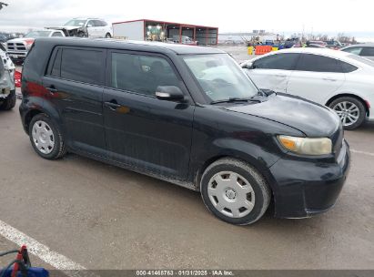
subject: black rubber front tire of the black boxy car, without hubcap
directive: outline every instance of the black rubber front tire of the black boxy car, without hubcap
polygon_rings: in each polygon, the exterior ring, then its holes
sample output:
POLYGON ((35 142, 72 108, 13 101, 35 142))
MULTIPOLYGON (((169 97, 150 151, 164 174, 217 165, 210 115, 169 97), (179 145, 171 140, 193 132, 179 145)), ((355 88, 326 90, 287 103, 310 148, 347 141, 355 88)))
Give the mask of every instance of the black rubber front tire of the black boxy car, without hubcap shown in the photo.
MULTIPOLYGON (((268 183, 265 180, 265 178, 258 172, 258 170, 244 161, 231 158, 218 159, 217 161, 215 161, 207 167, 201 178, 200 190, 202 199, 205 205, 207 206, 207 209, 209 209, 215 216, 217 216, 217 218, 221 219, 222 221, 227 221, 228 223, 236 225, 248 225, 258 221, 264 215, 265 211, 268 209, 268 205, 271 200, 271 190, 268 186, 268 183), (227 214, 223 213, 225 212, 224 210, 217 210, 212 200, 210 200, 207 191, 208 187, 210 186, 209 181, 216 174, 225 171, 230 171, 238 174, 240 178, 243 177, 245 180, 247 180, 250 186, 252 187, 254 195, 252 195, 252 192, 250 192, 250 197, 252 198, 254 196, 254 206, 247 215, 243 215, 242 217, 227 216, 227 214)), ((235 195, 237 194, 239 196, 238 191, 235 192, 235 195)))

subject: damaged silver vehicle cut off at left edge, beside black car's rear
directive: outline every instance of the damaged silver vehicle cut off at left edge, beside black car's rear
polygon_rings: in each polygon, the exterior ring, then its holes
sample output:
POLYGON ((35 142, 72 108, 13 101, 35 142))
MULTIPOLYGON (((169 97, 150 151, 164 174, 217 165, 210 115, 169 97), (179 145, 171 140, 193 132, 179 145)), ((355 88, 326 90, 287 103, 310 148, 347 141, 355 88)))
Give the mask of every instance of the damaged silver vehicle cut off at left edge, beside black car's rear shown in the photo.
POLYGON ((0 109, 15 107, 15 65, 0 45, 0 109))

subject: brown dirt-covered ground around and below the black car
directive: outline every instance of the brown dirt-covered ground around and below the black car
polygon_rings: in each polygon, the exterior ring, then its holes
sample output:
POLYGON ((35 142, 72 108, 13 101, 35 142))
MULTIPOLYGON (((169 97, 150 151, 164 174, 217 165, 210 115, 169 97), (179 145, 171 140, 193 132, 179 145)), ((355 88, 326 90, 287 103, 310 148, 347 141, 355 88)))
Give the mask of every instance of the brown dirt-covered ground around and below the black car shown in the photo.
MULTIPOLYGON (((167 182, 72 154, 39 158, 17 108, 0 113, 0 129, 0 221, 88 269, 374 269, 373 124, 346 132, 352 167, 333 210, 248 227, 167 182)), ((14 247, 0 236, 1 250, 14 247)))

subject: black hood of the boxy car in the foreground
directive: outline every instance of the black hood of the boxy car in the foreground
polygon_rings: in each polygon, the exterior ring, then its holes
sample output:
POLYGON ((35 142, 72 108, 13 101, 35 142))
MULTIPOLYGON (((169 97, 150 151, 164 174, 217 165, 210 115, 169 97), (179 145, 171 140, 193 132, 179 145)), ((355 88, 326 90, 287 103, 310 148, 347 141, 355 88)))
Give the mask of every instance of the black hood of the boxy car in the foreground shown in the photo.
POLYGON ((311 138, 330 137, 340 124, 338 115, 332 110, 300 97, 273 94, 258 104, 226 108, 297 128, 311 138))

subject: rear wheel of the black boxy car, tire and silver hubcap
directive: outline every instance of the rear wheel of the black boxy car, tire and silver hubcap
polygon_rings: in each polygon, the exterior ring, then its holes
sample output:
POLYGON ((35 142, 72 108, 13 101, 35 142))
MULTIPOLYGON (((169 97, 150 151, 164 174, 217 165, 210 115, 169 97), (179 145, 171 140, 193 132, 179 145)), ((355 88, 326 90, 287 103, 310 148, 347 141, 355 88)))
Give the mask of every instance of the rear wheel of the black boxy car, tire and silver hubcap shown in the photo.
POLYGON ((44 159, 59 159, 66 154, 65 139, 60 128, 45 114, 31 119, 29 136, 35 152, 44 159))

